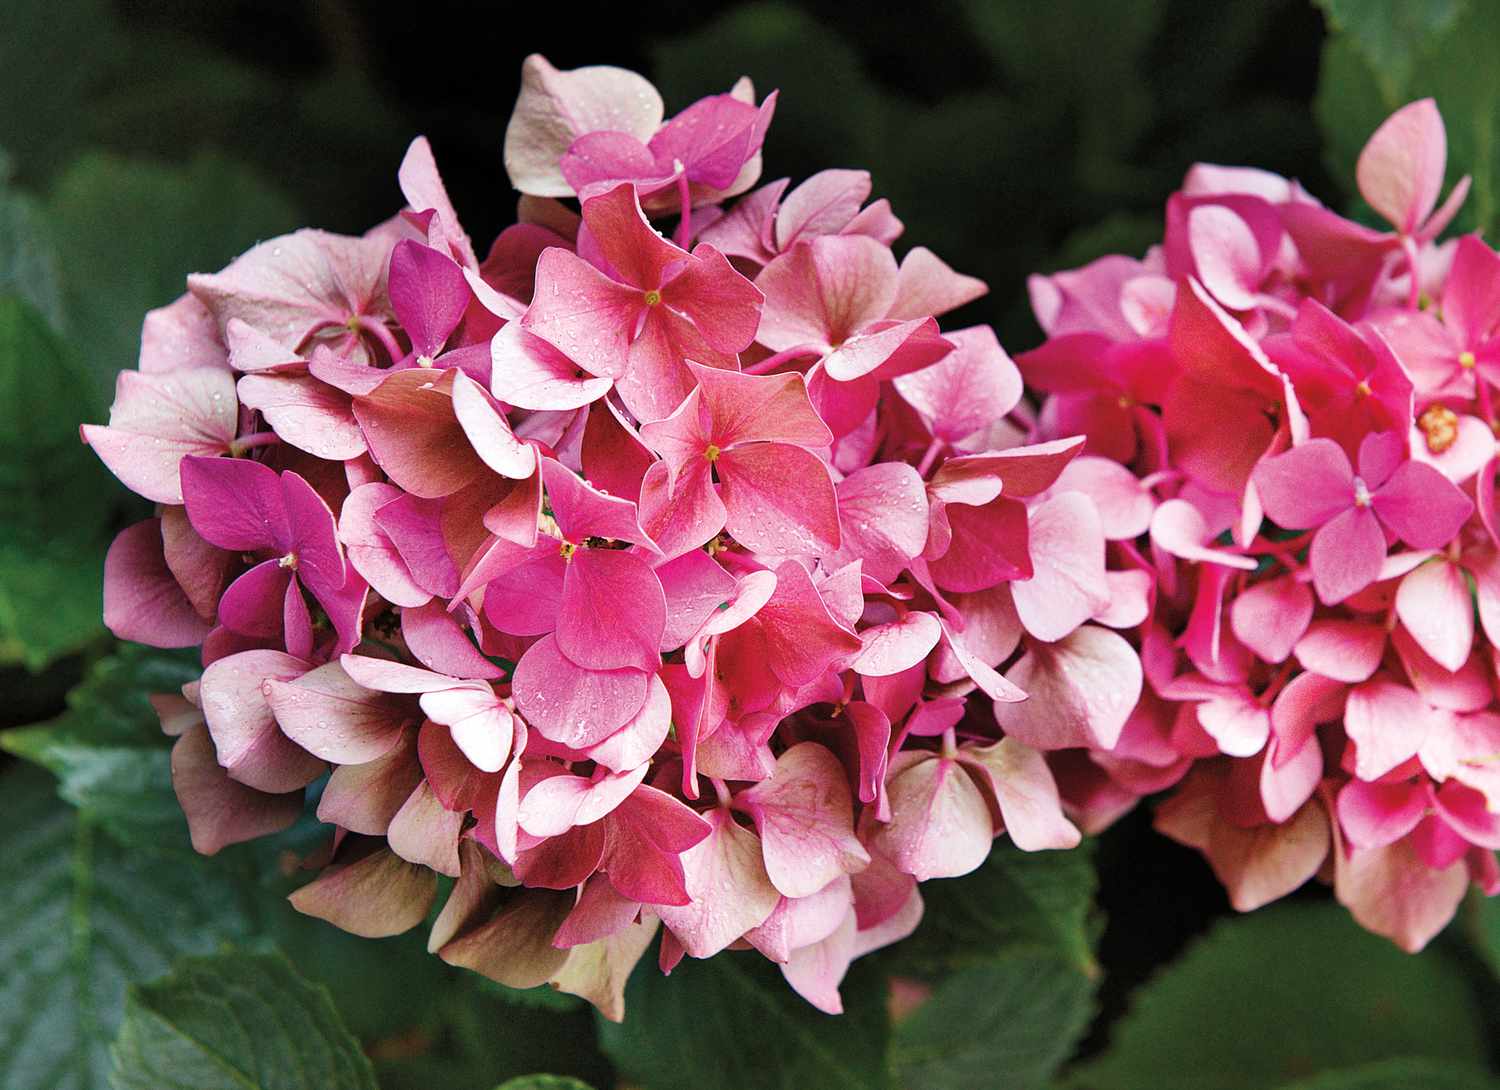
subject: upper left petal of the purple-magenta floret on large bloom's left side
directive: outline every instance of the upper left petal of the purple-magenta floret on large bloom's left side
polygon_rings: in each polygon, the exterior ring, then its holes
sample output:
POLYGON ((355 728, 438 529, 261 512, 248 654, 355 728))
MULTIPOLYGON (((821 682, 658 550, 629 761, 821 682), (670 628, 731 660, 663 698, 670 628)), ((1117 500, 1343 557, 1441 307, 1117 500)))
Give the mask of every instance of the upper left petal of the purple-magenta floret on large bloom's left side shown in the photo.
POLYGON ((183 502, 198 535, 231 552, 291 547, 276 471, 238 457, 184 457, 183 502))

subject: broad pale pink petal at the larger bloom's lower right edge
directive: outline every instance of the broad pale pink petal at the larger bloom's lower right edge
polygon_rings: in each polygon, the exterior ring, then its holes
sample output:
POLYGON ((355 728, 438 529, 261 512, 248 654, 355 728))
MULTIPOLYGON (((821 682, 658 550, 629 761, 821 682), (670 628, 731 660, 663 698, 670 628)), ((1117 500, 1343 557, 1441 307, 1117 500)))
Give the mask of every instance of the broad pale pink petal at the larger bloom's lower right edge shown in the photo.
POLYGON ((996 703, 994 721, 1038 750, 1113 748, 1142 687, 1134 649, 1096 625, 1083 625, 1058 643, 1034 643, 1008 676, 1029 696, 996 703))

